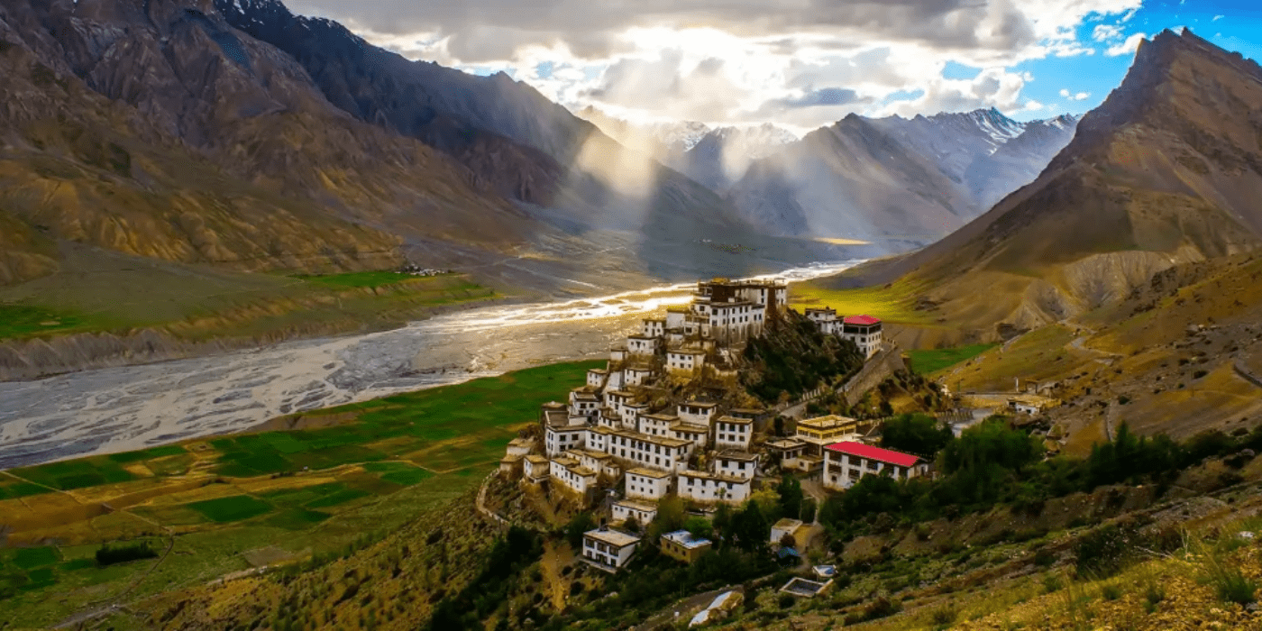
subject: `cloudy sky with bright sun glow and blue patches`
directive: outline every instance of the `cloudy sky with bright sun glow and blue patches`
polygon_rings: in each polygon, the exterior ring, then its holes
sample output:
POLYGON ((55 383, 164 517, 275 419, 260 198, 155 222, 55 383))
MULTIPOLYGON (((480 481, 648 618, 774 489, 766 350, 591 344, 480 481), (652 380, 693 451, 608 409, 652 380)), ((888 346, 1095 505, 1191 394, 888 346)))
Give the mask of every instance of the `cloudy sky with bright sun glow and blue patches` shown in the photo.
POLYGON ((1262 59, 1258 0, 289 0, 374 44, 506 72, 635 122, 772 122, 996 107, 1083 114, 1138 42, 1190 28, 1262 59))

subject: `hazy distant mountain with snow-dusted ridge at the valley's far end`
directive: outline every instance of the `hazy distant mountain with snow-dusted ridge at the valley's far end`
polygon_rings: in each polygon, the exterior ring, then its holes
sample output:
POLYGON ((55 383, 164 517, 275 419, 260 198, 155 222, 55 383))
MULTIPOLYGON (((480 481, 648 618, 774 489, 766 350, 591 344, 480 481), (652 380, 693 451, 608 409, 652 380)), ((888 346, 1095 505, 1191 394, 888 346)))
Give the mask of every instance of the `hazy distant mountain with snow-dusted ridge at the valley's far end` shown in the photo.
POLYGON ((926 244, 1032 180, 1075 124, 1021 124, 996 110, 851 115, 755 162, 727 196, 774 232, 926 244))

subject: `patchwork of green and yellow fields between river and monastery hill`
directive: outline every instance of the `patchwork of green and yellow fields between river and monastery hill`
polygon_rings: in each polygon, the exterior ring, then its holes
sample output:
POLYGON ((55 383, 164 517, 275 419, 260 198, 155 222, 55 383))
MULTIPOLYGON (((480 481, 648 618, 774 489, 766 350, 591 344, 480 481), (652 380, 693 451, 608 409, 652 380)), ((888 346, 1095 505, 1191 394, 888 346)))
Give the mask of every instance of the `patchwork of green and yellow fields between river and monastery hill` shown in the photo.
MULTIPOLYGON (((476 488, 570 362, 305 413, 332 427, 235 434, 0 472, 0 620, 53 625, 396 529, 476 488), (319 419, 328 422, 328 418, 319 419), (169 554, 97 567, 107 541, 169 554), (52 545, 48 545, 49 543, 52 545)), ((292 419, 293 420, 293 419, 292 419)))

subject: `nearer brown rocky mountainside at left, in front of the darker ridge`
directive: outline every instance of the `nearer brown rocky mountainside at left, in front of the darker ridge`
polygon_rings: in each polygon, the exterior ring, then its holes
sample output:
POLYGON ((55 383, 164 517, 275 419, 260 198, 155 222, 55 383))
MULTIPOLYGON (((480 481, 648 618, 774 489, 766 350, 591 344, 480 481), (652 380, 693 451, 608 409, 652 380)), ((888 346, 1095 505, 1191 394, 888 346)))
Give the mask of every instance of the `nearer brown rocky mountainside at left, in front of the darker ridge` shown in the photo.
POLYGON ((530 230, 440 154, 332 107, 208 3, 5 0, 0 39, 0 212, 25 226, 6 280, 54 269, 56 240, 324 270, 396 264, 409 232, 500 250, 530 230))

